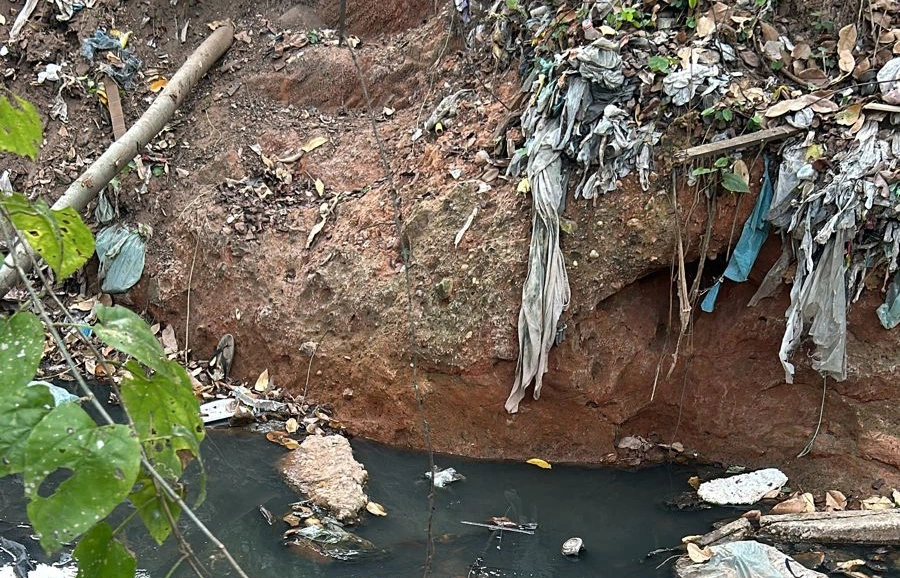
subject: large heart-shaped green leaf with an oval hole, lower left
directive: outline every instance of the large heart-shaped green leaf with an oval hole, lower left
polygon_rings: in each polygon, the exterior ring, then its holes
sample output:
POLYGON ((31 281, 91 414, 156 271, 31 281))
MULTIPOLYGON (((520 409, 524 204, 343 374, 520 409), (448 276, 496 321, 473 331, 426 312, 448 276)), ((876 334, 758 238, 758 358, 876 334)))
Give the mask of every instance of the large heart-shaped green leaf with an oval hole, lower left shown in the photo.
POLYGON ((41 546, 53 552, 112 512, 131 491, 140 460, 128 426, 98 427, 74 403, 44 416, 25 444, 24 476, 28 518, 41 546), (71 475, 48 492, 42 484, 58 470, 71 475))

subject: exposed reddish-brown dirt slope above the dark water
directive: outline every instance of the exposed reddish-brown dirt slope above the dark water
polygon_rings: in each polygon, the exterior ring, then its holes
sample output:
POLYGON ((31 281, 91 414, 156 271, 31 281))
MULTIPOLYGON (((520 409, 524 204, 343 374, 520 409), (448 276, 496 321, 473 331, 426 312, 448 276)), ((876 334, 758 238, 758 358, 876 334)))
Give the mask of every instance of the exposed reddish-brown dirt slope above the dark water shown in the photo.
MULTIPOLYGON (((540 401, 506 414, 530 201, 516 193, 515 182, 490 179, 491 167, 476 153, 493 151, 493 132, 519 80, 514 71, 501 75, 471 64, 448 40, 446 13, 435 16, 427 3, 367 9, 350 2, 349 28, 361 38, 360 60, 402 199, 402 235, 412 247, 410 316, 391 191, 348 52, 319 44, 273 58, 270 30, 333 25, 333 4, 229 0, 213 7, 181 0, 172 9, 168 0, 113 2, 79 14, 68 28, 52 22, 50 4, 38 9, 43 13, 30 25, 27 46, 16 52, 21 60, 8 58, 6 66, 17 71, 12 88, 43 113, 53 93, 29 86, 34 72, 61 59, 83 66, 77 39, 99 25, 133 29, 132 45, 145 66, 169 74, 205 36, 204 23, 231 18, 244 33, 172 123, 166 137, 172 146, 157 149, 169 174, 151 179, 142 195, 133 192, 134 175, 123 179, 124 218, 155 232, 144 280, 126 301, 182 328, 190 288, 189 338, 198 356, 209 354, 221 334, 233 333, 236 377, 252 379, 268 368, 276 383, 332 402, 353 433, 379 441, 422 447, 410 386, 413 322, 436 450, 629 463, 633 456, 617 455, 615 442, 643 435, 679 441, 710 459, 782 466, 796 487, 862 489, 878 479, 900 485, 900 410, 893 401, 900 334, 878 325, 874 293, 850 318, 850 378, 828 384, 818 442, 809 456, 793 459, 816 426, 821 378, 801 371, 794 385, 784 384, 776 354, 786 287, 756 308, 745 307, 777 257, 775 239, 750 281, 727 285, 715 314, 696 318, 667 375, 678 306, 670 283, 676 223, 665 177, 649 192, 626 181, 594 204, 569 203, 566 216, 576 227, 563 238, 573 294, 565 340, 551 354, 540 401), (185 44, 177 40, 172 10, 179 26, 191 19, 185 44), (147 45, 151 39, 155 48, 147 45), (473 93, 452 126, 412 142, 417 121, 461 88, 473 93), (382 112, 386 107, 394 112, 382 112), (266 174, 250 149, 258 143, 276 158, 315 136, 328 142, 285 163, 290 184, 266 174), (479 192, 478 177, 490 180, 490 190, 479 192), (244 178, 256 188, 226 184, 244 178), (323 202, 316 180, 325 199, 347 194, 306 249, 323 202), (454 247, 476 206, 471 228, 454 247), (319 350, 307 384, 310 359, 300 346, 309 341, 319 350)), ((8 21, 12 7, 0 0, 8 21)), ((143 85, 125 94, 127 120, 149 96, 143 85)), ((110 140, 93 97, 67 93, 66 100, 70 122, 63 129, 48 120, 41 162, 13 165, 18 186, 48 197, 78 174, 78 157, 96 158, 110 140)), ((515 131, 509 138, 521 144, 515 131)), ((737 199, 718 204, 709 249, 720 259, 753 203, 737 199)), ((695 201, 693 191, 678 194, 682 207, 695 201)), ((690 215, 687 257, 695 260, 705 202, 690 215)))

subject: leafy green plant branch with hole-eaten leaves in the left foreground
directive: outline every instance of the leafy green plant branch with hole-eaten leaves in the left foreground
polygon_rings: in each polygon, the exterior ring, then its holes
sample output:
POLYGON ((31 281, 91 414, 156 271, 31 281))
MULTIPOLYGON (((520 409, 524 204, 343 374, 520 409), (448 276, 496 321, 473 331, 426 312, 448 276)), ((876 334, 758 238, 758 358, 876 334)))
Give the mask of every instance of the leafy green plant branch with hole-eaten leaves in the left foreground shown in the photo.
MULTIPOLYGON (((5 106, 9 102, 0 96, 0 114, 12 119, 9 128, 0 131, 0 148, 34 158, 40 119, 25 114, 30 105, 20 99, 16 103, 18 107, 5 106), (19 110, 25 113, 17 115, 19 110)), ((13 248, 6 264, 14 269, 30 299, 29 306, 23 304, 10 317, 0 318, 0 371, 4 376, 0 412, 6 418, 0 423, 0 476, 23 475, 28 516, 42 547, 54 551, 80 537, 74 551, 79 578, 133 576, 136 560, 115 536, 137 515, 157 543, 170 534, 175 536, 183 553, 176 567, 187 560, 202 576, 203 564, 177 526, 184 512, 236 574, 248 578, 185 503, 181 488, 175 487, 182 483, 186 461, 196 460, 201 467, 198 503, 205 496, 199 451, 205 432, 184 368, 166 358, 139 316, 122 307, 96 305, 97 323, 90 326, 94 335, 131 358, 120 365, 122 387, 116 393, 126 424, 117 424, 93 395, 60 334, 64 328, 79 328, 75 335, 95 358, 104 365, 113 363, 82 333, 85 325, 63 306, 49 276, 37 263, 40 256, 57 281, 65 279, 93 254, 90 230, 74 210, 55 210, 20 194, 0 196, 0 230, 7 247, 13 248), (31 250, 20 253, 17 246, 31 250), (23 258, 29 262, 23 263, 23 258), (26 266, 37 272, 40 291, 28 278, 26 266), (42 294, 55 302, 66 323, 54 322, 42 294), (88 401, 101 424, 79 403, 57 403, 51 391, 31 384, 44 354, 45 330, 83 393, 78 402, 88 401), (55 487, 51 484, 48 493, 45 483, 58 470, 67 470, 70 476, 55 487), (113 529, 105 519, 125 500, 135 510, 113 529)))

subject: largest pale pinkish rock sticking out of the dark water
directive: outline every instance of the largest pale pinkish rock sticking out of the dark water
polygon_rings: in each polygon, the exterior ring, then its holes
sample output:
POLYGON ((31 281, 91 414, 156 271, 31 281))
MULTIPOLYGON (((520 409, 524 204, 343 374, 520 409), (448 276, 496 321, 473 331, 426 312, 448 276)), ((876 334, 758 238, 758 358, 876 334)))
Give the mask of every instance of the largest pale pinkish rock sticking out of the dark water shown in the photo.
POLYGON ((368 474, 353 458, 347 438, 309 436, 282 458, 281 472, 288 485, 341 522, 356 520, 369 502, 362 489, 368 474))

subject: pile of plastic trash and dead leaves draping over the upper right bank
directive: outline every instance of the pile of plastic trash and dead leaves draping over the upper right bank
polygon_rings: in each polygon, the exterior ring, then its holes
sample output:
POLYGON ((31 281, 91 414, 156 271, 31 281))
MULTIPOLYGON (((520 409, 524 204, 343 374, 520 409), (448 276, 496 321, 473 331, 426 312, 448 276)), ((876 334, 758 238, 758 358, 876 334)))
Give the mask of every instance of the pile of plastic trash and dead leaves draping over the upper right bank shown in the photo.
MULTIPOLYGON (((489 17, 473 19, 469 42, 488 46, 501 66, 518 58, 529 97, 521 115, 526 142, 509 165, 534 207, 510 413, 532 382, 539 397, 571 297, 559 226, 569 187, 576 200, 615 191, 627 177, 648 190, 654 147, 678 124, 698 145, 785 124, 806 131, 780 159, 769 159, 777 174, 766 171, 736 251, 742 262, 707 290, 714 294, 704 310, 712 310, 723 278, 746 280, 777 230, 785 254, 752 303, 795 269, 779 352, 789 382, 791 354, 807 336, 816 346, 813 367, 846 377, 847 308, 876 271, 887 296, 879 318, 886 328, 900 323, 900 136, 892 133, 900 121, 900 30, 884 26, 898 15, 896 4, 876 0, 870 14, 816 49, 812 37, 792 40, 786 27, 776 28, 769 2, 652 8, 519 0, 496 2, 489 17)), ((746 170, 739 157, 716 159, 715 170, 688 167, 687 181, 698 169, 734 177, 736 163, 746 170)), ((741 191, 750 190, 749 175, 740 178, 741 191)), ((736 191, 724 181, 722 188, 736 191)))

